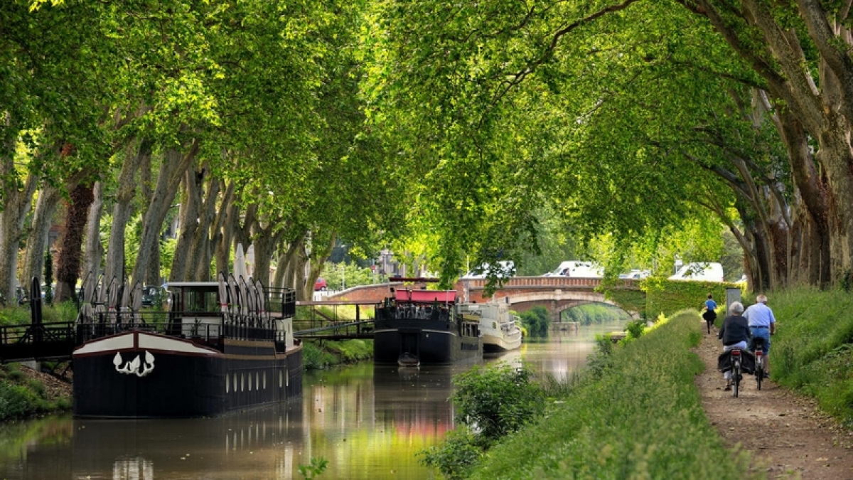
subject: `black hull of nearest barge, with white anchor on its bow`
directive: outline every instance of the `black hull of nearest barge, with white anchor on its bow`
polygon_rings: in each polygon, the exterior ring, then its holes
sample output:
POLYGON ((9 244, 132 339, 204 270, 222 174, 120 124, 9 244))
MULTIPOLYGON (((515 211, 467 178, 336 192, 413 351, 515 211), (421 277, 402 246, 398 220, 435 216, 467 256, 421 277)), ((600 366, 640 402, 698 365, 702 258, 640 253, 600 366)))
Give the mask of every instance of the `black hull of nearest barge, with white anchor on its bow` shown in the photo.
POLYGON ((225 341, 223 351, 129 331, 84 343, 73 354, 77 417, 210 417, 297 398, 302 350, 274 342, 225 341))

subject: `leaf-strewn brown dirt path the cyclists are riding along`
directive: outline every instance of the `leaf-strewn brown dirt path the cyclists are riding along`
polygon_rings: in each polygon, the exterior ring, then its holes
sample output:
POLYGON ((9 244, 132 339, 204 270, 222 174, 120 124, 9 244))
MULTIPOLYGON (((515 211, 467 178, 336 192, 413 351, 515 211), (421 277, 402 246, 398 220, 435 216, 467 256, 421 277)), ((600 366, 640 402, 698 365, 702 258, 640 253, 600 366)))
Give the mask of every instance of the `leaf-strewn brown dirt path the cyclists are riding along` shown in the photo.
MULTIPOLYGON (((696 353, 706 368, 695 382, 708 419, 729 447, 740 442, 752 455, 751 468, 768 478, 853 479, 853 432, 817 410, 815 401, 772 380, 765 379, 758 391, 755 377, 745 375, 734 398, 723 390, 726 381, 717 371, 722 353, 717 331, 706 333, 703 321, 702 332, 696 353)), ((769 360, 772 373, 772 352, 769 360)))

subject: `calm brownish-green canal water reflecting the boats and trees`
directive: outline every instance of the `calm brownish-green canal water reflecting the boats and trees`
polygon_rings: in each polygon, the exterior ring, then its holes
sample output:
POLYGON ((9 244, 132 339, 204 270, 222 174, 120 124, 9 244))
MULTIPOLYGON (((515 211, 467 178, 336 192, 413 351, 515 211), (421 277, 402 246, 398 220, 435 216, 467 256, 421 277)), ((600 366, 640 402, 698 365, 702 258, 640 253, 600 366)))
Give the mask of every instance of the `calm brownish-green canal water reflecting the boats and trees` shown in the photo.
MULTIPOLYGON (((566 378, 596 333, 552 332, 548 342, 485 362, 525 361, 566 378)), ((70 415, 0 424, 0 479, 287 479, 328 460, 319 478, 437 478, 417 454, 454 428, 451 377, 465 366, 372 363, 310 372, 303 396, 216 419, 103 420, 70 415)))

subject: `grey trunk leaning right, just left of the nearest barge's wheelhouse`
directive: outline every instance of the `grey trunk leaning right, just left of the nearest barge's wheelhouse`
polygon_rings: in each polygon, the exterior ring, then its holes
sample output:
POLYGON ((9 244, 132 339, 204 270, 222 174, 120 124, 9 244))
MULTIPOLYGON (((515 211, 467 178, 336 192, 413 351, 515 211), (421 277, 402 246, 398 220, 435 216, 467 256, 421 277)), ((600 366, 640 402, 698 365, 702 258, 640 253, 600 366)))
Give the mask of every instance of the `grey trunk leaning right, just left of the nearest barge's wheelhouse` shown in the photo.
MULTIPOLYGON (((199 144, 193 141, 189 151, 182 155, 177 149, 167 149, 165 157, 160 164, 160 174, 157 184, 148 204, 148 211, 142 220, 142 238, 139 245, 139 256, 133 269, 133 278, 146 278, 147 281, 156 281, 149 278, 151 272, 148 268, 153 257, 160 258, 160 231, 163 220, 171 207, 171 201, 175 198, 177 186, 181 183, 183 173, 187 171, 198 154, 199 144)), ((159 274, 158 274, 159 277, 159 274)))

